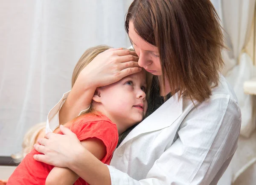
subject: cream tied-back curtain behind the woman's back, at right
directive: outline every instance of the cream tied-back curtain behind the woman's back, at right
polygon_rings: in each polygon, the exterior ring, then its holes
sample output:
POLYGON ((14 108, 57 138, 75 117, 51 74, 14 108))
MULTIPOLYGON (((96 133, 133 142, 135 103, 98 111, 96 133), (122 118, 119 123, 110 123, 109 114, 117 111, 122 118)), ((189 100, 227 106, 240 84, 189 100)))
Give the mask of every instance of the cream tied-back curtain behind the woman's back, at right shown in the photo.
POLYGON ((233 86, 241 107, 238 149, 218 185, 254 185, 256 182, 256 120, 253 96, 244 93, 244 81, 256 75, 252 55, 245 49, 252 38, 255 0, 212 0, 224 27, 226 45, 222 74, 233 86))

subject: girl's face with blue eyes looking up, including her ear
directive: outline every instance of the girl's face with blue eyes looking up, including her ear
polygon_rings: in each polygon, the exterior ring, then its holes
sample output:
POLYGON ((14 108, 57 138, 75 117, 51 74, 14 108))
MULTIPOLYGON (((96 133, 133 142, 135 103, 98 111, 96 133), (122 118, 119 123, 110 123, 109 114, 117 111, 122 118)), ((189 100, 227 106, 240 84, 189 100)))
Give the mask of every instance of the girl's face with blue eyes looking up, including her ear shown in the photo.
POLYGON ((122 78, 114 84, 99 87, 99 96, 96 97, 100 102, 98 108, 111 121, 122 124, 126 130, 142 121, 145 116, 148 108, 146 88, 145 70, 122 78))

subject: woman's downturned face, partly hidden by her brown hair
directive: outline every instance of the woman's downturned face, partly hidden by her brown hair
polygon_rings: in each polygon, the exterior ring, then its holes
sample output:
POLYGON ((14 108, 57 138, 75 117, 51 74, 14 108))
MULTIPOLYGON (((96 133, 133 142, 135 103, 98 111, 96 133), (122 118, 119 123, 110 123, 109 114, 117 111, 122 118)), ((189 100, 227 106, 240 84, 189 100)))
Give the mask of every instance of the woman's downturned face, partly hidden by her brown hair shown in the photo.
POLYGON ((135 52, 139 56, 139 65, 153 75, 162 75, 158 48, 140 38, 135 32, 132 21, 129 21, 128 35, 135 52))

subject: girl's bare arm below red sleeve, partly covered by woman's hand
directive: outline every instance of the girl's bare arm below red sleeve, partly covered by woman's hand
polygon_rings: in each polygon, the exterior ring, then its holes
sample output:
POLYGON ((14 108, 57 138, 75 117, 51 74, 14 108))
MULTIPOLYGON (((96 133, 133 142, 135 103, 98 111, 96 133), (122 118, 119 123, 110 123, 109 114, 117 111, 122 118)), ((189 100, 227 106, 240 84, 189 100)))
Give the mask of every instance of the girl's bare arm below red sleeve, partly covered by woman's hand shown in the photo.
MULTIPOLYGON (((90 151, 97 161, 101 160, 106 155, 106 147, 100 139, 86 139, 81 142, 81 148, 90 151)), ((78 178, 79 176, 69 168, 54 167, 47 176, 45 184, 73 185, 78 178)))

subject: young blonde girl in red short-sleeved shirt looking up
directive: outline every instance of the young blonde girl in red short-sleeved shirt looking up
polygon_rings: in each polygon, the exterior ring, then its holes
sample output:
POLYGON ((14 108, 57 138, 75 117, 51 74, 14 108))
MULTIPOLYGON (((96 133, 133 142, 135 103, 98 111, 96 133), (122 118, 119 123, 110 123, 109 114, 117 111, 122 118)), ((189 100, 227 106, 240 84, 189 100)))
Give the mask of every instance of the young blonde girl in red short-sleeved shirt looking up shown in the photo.
MULTIPOLYGON (((81 70, 107 49, 108 46, 97 46, 84 52, 74 69, 72 86, 81 70)), ((122 78, 114 84, 99 87, 94 93, 90 110, 64 126, 76 134, 81 145, 101 162, 109 165, 119 134, 142 121, 145 116, 148 106, 146 89, 145 70, 122 78)), ((54 132, 60 133, 59 128, 54 132)), ((33 156, 37 153, 32 150, 26 155, 9 178, 8 185, 87 184, 68 168, 58 168, 35 161, 33 156)))

